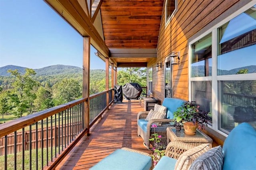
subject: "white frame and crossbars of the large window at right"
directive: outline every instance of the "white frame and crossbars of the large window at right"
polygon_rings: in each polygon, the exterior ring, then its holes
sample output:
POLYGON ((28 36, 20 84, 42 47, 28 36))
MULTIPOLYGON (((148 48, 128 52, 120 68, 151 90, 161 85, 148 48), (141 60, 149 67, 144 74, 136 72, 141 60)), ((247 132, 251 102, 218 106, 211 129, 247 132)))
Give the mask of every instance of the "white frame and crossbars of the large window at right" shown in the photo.
POLYGON ((256 3, 255 1, 248 2, 239 10, 236 10, 230 16, 226 17, 218 24, 214 25, 212 28, 208 29, 204 33, 200 34, 198 37, 194 38, 188 43, 188 96, 189 100, 192 99, 192 81, 212 81, 212 125, 208 127, 212 128, 216 132, 228 136, 229 132, 220 127, 220 102, 219 102, 219 88, 218 81, 234 81, 234 80, 256 80, 256 73, 248 74, 237 74, 237 75, 217 75, 217 56, 218 56, 218 28, 226 24, 228 21, 232 20, 236 16, 242 14, 256 3), (191 59, 192 59, 192 44, 212 33, 212 76, 209 77, 191 77, 191 59), (216 91, 217 93, 214 93, 216 91))

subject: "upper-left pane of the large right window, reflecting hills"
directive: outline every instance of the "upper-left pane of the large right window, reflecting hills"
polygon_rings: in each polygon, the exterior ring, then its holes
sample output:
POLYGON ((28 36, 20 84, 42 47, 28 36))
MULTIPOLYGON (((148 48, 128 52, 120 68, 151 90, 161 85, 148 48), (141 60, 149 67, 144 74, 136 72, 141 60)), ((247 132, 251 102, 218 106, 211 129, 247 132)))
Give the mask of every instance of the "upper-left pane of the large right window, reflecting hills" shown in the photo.
POLYGON ((212 76, 212 34, 192 44, 191 77, 212 76))

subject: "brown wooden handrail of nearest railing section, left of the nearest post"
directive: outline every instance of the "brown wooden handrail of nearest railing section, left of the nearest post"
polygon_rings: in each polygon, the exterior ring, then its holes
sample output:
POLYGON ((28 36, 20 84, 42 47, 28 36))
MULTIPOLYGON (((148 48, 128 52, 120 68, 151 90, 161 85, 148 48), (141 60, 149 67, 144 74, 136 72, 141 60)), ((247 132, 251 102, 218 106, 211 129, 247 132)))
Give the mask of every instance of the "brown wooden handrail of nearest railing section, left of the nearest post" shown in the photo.
POLYGON ((34 113, 32 115, 28 115, 26 117, 21 117, 19 119, 15 119, 8 123, 4 123, 4 124, 0 125, 0 138, 2 136, 8 135, 17 130, 20 130, 24 127, 32 125, 33 123, 36 123, 43 119, 46 119, 47 117, 50 117, 56 113, 65 111, 66 109, 69 109, 75 105, 78 105, 79 103, 85 102, 86 100, 88 100, 88 98, 77 99, 77 100, 70 101, 68 103, 56 106, 56 107, 52 107, 50 109, 46 109, 44 111, 34 113))

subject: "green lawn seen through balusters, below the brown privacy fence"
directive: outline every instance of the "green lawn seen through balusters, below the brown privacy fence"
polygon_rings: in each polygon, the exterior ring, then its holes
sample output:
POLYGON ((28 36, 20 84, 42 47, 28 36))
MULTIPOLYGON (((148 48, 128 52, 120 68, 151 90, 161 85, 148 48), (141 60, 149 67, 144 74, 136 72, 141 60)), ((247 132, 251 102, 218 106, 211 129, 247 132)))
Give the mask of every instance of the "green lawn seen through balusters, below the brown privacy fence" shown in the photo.
MULTIPOLYGON (((62 148, 60 148, 61 150, 62 148)), ((58 148, 57 148, 58 150, 58 148)), ((43 165, 46 166, 46 148, 43 149, 43 156, 44 156, 44 161, 43 161, 43 165)), ((24 169, 30 169, 29 167, 29 150, 26 150, 24 152, 25 155, 25 160, 24 160, 24 169)), ((55 157, 55 147, 52 148, 52 155, 53 157, 55 157)), ((41 169, 42 166, 42 162, 41 162, 41 156, 42 156, 42 152, 41 152, 41 148, 38 148, 38 169, 41 169)), ((20 170, 22 169, 22 152, 18 152, 17 153, 17 169, 20 170)), ((50 152, 50 148, 48 148, 48 161, 50 162, 51 158, 51 152, 50 152)), ((32 150, 32 170, 36 169, 36 150, 33 149, 32 150)), ((0 167, 2 167, 1 169, 4 169, 4 156, 0 156, 0 167)), ((7 156, 7 169, 8 170, 13 170, 14 169, 14 154, 8 154, 7 156)))

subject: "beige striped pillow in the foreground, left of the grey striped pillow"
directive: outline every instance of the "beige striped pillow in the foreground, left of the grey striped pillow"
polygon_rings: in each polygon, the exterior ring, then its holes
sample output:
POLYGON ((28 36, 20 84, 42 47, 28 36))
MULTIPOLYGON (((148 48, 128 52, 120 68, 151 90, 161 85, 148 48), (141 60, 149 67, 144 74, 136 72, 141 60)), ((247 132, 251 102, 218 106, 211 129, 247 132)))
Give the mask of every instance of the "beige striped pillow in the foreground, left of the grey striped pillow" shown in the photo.
POLYGON ((196 146, 194 148, 187 150, 186 152, 181 154, 180 157, 178 158, 175 164, 175 169, 188 170, 192 162, 209 149, 210 149, 209 144, 201 144, 199 146, 196 146))

